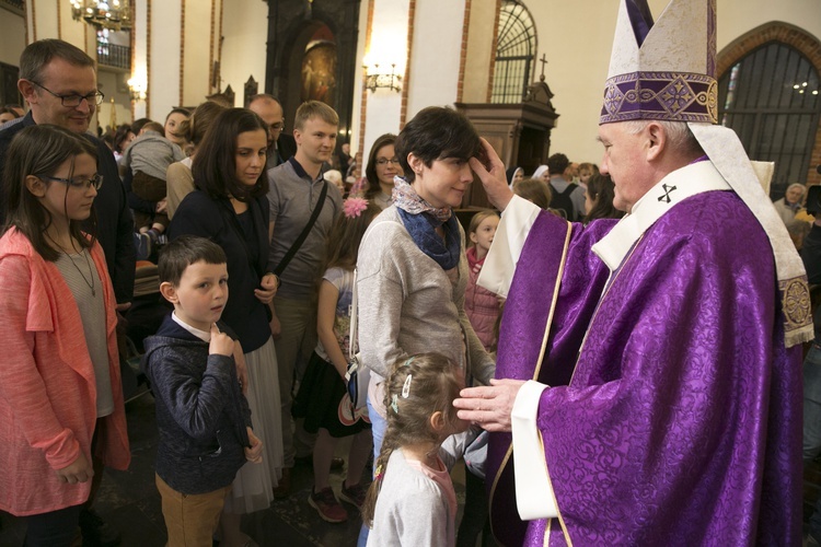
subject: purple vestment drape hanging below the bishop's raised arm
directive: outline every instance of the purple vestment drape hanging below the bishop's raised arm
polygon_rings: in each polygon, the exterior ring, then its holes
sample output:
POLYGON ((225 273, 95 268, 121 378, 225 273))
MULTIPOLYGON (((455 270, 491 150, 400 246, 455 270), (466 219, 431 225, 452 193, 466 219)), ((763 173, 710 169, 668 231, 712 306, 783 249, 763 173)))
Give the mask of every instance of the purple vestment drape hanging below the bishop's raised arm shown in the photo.
MULTIPOLYGON (((580 237, 592 237, 592 245, 615 223, 603 221, 595 223, 594 229, 591 225, 582 230, 580 224, 551 213, 540 214, 522 249, 522 257, 528 257, 528 267, 517 268, 505 303, 496 361, 497 379, 537 380, 547 385, 569 383, 581 340, 609 271, 590 253, 583 257, 575 256, 570 243, 580 237), (575 268, 579 268, 579 261, 588 266, 581 268, 585 274, 574 276, 573 271, 565 272, 567 261, 571 261, 575 268), (563 281, 563 276, 570 279, 563 281), (521 287, 529 290, 517 290, 521 287), (579 304, 563 305, 559 295, 579 304)), ((589 249, 587 245, 581 247, 589 249)), ((510 433, 494 433, 487 456, 490 523, 497 542, 510 546, 522 544, 528 526, 519 519, 512 474, 512 437, 510 433)))

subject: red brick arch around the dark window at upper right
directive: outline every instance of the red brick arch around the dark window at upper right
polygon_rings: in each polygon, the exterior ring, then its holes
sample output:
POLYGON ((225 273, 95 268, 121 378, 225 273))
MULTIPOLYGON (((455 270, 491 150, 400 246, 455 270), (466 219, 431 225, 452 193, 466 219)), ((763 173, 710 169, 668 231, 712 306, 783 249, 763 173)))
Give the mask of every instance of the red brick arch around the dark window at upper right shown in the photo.
MULTIPOLYGON (((739 36, 718 53, 716 78, 720 79, 736 62, 770 42, 779 42, 795 48, 821 73, 821 42, 798 26, 782 21, 771 21, 739 36)), ((816 166, 819 164, 821 164, 821 124, 816 130, 816 143, 807 174, 808 182, 819 181, 816 172, 816 166)))

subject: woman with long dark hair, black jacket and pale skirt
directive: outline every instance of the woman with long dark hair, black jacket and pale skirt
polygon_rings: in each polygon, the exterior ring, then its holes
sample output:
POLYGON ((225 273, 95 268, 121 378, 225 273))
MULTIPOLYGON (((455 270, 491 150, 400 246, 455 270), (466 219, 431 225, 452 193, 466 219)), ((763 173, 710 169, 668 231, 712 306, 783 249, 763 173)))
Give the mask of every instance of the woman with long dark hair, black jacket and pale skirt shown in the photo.
POLYGON ((240 515, 267 509, 282 467, 278 430, 279 380, 269 309, 279 283, 268 271, 270 221, 265 176, 267 126, 251 110, 230 108, 213 120, 192 164, 197 190, 188 194, 171 222, 171 238, 207 237, 228 258, 228 303, 222 321, 236 334, 247 366, 253 430, 263 441, 263 465, 236 475, 222 516, 222 542, 244 545, 240 515))

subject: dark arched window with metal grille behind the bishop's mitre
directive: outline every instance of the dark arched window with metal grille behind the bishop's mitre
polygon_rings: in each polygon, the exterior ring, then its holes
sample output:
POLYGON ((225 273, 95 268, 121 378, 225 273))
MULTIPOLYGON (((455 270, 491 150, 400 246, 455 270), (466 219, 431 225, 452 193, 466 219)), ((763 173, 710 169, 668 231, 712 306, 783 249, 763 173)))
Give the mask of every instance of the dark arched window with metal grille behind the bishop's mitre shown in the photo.
POLYGON ((718 82, 719 120, 752 160, 775 162, 771 197, 805 184, 821 114, 821 85, 797 49, 770 42, 750 51, 718 82))

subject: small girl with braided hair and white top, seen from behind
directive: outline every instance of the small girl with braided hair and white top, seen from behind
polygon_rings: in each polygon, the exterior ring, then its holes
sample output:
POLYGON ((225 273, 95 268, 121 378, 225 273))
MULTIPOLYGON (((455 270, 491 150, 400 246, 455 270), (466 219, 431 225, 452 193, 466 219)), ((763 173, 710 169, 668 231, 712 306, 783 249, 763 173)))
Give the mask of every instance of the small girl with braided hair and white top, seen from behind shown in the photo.
POLYGON ((394 364, 385 380, 388 430, 362 508, 362 521, 372 528, 369 546, 455 544, 456 496, 449 472, 454 457, 440 447, 467 429, 453 408, 463 386, 460 368, 439 353, 394 364))

